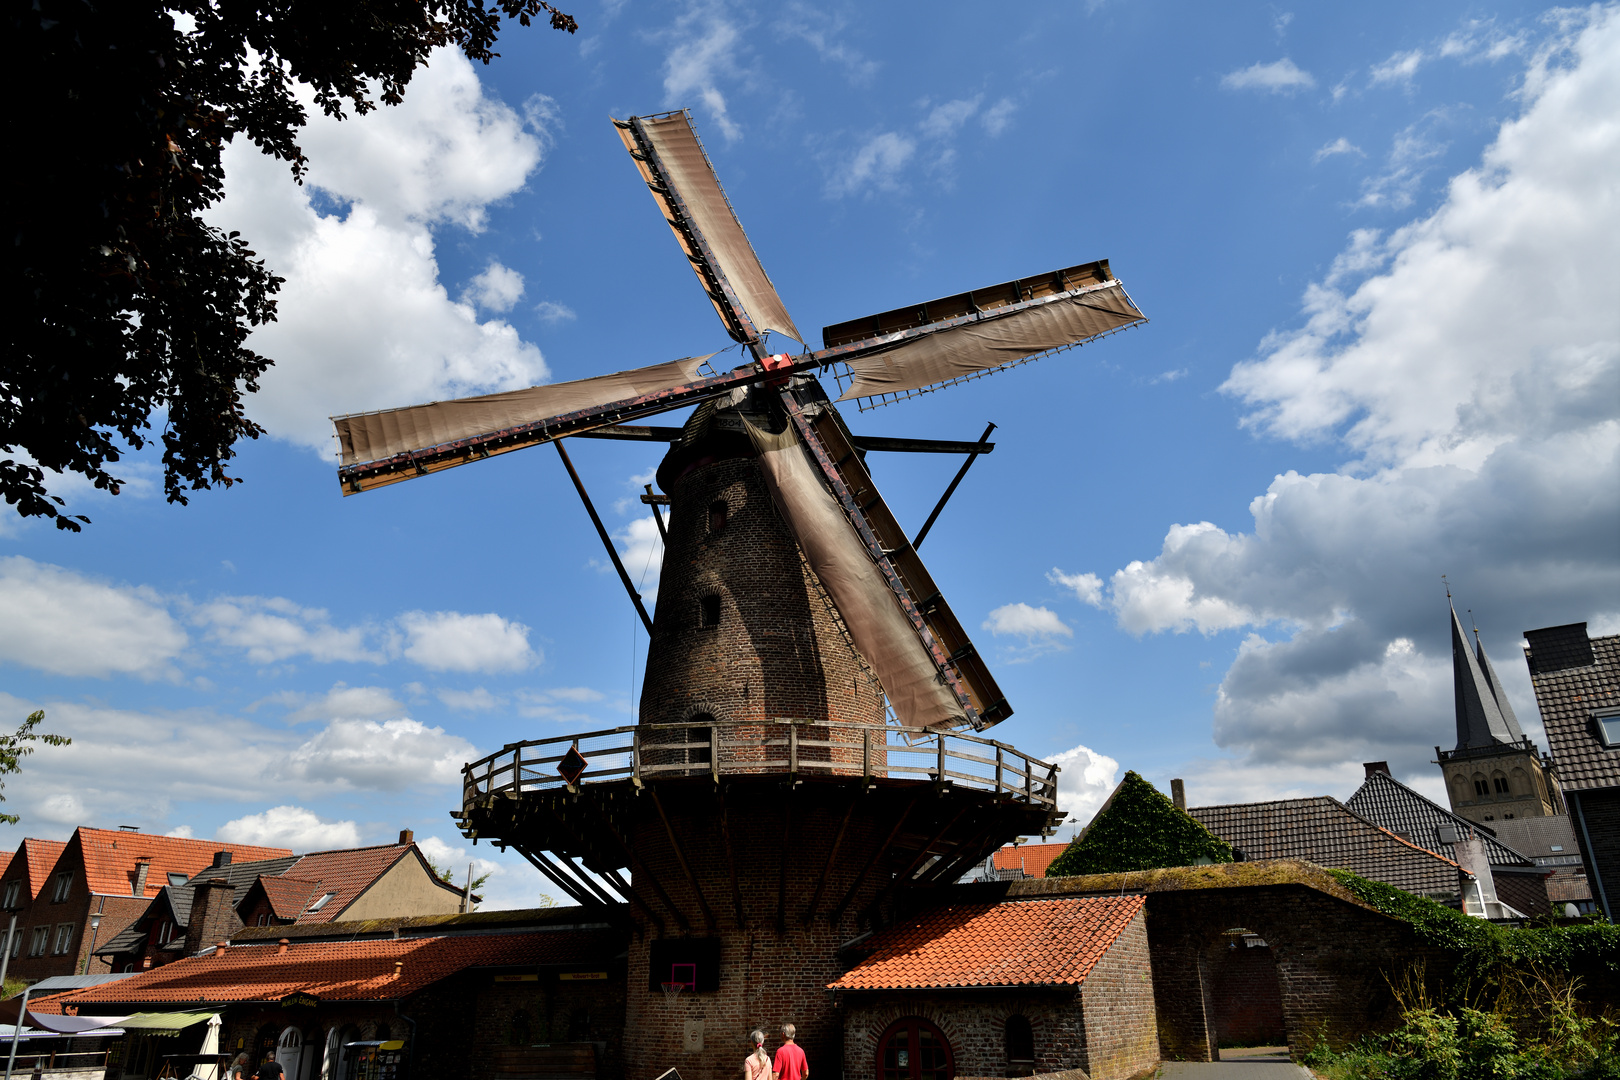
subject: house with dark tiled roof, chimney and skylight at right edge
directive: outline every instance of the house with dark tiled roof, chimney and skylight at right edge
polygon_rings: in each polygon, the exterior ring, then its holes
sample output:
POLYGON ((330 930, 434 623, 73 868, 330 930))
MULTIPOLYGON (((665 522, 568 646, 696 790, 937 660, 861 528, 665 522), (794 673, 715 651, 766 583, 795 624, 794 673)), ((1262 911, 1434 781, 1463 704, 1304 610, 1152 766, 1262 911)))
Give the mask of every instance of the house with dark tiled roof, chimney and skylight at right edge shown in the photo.
POLYGON ((1526 630, 1529 682, 1597 905, 1620 913, 1620 635, 1526 630))

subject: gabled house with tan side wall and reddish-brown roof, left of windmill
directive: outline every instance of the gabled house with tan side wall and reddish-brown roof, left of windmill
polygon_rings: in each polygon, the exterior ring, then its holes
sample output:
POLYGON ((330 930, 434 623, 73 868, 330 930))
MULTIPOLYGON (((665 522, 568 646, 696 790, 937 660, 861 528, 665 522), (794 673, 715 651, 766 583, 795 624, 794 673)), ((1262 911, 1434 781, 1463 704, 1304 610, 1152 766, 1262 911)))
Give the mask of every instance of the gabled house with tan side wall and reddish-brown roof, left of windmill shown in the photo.
POLYGON ((214 865, 164 887, 123 933, 96 950, 117 972, 196 955, 243 926, 447 915, 462 891, 439 881, 408 829, 399 844, 214 865))

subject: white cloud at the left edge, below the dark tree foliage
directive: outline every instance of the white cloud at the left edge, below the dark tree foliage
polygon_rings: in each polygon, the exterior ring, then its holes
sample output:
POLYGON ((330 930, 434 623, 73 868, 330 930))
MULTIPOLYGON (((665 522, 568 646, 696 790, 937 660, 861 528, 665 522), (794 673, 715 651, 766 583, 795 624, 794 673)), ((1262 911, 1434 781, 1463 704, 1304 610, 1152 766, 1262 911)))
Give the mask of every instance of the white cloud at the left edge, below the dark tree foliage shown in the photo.
POLYGON ((177 675, 186 631, 146 586, 0 559, 0 661, 52 675, 177 675))

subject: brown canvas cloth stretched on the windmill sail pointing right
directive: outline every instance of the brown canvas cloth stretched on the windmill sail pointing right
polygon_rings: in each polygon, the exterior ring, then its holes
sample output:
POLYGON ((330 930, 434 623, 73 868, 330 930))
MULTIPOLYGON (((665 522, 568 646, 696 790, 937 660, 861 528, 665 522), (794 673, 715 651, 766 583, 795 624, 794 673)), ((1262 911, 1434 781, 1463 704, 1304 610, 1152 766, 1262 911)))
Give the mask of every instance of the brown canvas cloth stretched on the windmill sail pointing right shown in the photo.
POLYGON ((1110 285, 1037 308, 944 327, 849 361, 839 402, 922 390, 1142 322, 1124 288, 1110 285))

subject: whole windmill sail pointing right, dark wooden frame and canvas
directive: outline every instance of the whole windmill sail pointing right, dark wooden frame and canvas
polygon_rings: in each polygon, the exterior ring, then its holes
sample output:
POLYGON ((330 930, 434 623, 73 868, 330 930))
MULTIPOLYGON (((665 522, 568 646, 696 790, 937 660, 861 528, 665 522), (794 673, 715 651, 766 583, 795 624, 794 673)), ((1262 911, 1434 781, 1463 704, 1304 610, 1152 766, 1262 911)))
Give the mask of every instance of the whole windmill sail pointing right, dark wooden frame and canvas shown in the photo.
POLYGON ((1100 261, 826 327, 818 356, 842 358, 839 400, 870 408, 1145 321, 1100 261))

